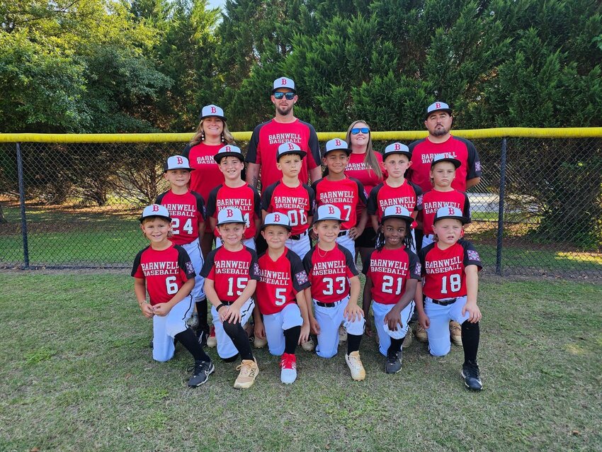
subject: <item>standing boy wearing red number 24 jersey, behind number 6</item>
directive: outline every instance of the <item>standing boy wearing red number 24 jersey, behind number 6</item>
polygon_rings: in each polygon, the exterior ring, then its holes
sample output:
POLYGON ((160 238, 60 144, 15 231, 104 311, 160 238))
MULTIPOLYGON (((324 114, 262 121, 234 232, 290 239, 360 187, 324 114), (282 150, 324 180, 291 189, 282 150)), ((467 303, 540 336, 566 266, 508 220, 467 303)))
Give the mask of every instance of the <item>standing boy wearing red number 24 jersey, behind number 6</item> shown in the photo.
MULTIPOLYGON (((181 155, 169 157, 164 165, 163 176, 169 181, 171 189, 157 196, 155 204, 164 205, 171 216, 171 242, 186 249, 194 266, 195 285, 191 295, 198 312, 198 336, 201 345, 207 342, 209 325, 207 322, 207 298, 203 285, 205 280, 200 276, 203 268, 203 253, 200 241, 205 232, 205 200, 203 196, 190 191, 188 182, 191 180, 192 168, 188 159, 181 155)), ((197 314, 193 314, 194 317, 197 314)))

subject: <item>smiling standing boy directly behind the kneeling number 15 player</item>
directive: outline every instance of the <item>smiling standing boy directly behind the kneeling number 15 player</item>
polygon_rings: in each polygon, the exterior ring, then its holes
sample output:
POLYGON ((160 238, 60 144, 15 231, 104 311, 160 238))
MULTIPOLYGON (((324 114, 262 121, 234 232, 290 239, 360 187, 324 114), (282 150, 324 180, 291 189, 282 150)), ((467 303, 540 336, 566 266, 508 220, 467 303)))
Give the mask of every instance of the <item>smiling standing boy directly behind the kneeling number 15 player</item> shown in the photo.
POLYGON ((244 246, 255 249, 255 237, 261 225, 261 199, 256 188, 241 179, 244 157, 239 147, 227 145, 215 154, 215 162, 220 165, 225 182, 213 188, 207 201, 207 216, 211 229, 215 231, 215 247, 222 245, 222 239, 215 228, 217 216, 227 207, 239 208, 245 221, 244 246))

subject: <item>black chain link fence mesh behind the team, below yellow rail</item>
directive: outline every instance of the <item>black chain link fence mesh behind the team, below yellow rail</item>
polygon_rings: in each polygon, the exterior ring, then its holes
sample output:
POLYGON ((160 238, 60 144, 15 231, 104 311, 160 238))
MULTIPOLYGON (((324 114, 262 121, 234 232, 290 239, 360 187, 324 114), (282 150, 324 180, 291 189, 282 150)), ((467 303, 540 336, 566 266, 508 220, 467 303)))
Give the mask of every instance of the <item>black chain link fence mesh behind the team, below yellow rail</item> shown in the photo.
MULTIPOLYGON (((483 174, 466 234, 484 271, 602 278, 602 138, 472 141, 483 174)), ((129 267, 147 246, 140 209, 185 144, 1 143, 0 267, 129 267)))

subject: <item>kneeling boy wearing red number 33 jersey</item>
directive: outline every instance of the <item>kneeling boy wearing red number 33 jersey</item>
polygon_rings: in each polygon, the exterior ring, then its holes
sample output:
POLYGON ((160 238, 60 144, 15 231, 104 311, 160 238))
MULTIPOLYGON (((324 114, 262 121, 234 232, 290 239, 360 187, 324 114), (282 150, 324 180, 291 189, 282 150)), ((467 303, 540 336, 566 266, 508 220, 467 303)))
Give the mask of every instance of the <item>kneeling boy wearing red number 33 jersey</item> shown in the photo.
POLYGON ((353 380, 360 381, 365 378, 359 353, 365 325, 363 310, 358 306, 361 285, 351 252, 336 243, 341 222, 341 210, 336 205, 324 204, 317 208, 312 227, 318 243, 303 259, 311 283, 311 287, 305 289, 305 300, 309 325, 318 337, 317 355, 322 358, 336 355, 339 325, 343 323, 347 332, 345 361, 353 380))

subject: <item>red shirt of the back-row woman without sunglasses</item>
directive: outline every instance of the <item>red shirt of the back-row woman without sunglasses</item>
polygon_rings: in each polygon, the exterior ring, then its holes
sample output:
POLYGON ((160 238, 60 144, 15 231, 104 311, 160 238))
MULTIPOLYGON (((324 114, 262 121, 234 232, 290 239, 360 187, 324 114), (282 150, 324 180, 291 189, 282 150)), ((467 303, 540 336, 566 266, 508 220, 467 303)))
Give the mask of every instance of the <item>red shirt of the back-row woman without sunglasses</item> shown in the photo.
POLYGON ((198 145, 191 147, 186 146, 183 157, 188 159, 191 168, 191 190, 203 196, 203 199, 209 198, 209 193, 213 188, 224 183, 224 174, 220 171, 220 166, 215 163, 213 156, 224 146, 221 145, 205 145, 200 142, 198 145))

